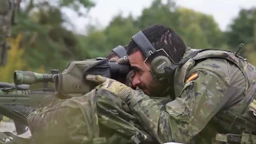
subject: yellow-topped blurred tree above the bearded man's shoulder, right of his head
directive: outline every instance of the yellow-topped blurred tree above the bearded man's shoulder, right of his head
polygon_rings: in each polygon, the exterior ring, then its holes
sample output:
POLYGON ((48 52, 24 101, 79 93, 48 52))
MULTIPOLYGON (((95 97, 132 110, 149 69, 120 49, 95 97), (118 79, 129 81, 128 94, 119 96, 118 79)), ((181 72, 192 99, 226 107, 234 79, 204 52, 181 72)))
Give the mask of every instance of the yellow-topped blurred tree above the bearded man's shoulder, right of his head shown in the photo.
POLYGON ((214 21, 213 16, 183 7, 179 8, 177 13, 179 15, 178 30, 182 31, 181 36, 185 39, 187 46, 197 49, 221 49, 224 43, 222 31, 217 22, 214 21))

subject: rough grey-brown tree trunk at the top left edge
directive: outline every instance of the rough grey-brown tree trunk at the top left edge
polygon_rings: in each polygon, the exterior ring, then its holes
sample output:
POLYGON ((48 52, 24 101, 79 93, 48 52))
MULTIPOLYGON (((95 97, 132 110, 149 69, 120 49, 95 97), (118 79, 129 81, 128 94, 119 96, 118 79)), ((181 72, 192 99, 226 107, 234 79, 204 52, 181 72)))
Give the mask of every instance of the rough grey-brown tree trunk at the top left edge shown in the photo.
POLYGON ((0 66, 5 66, 7 61, 7 50, 10 45, 6 38, 10 38, 12 16, 14 13, 15 0, 0 1, 0 66))

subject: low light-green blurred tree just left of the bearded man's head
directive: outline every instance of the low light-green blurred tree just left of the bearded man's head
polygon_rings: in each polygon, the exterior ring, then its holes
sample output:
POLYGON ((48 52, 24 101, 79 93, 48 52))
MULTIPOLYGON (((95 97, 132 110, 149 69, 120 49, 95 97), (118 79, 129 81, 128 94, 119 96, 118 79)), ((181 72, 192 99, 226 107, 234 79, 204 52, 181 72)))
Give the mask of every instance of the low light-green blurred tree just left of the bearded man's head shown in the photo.
POLYGON ((91 30, 85 38, 85 47, 90 58, 105 57, 114 47, 127 45, 130 38, 138 32, 134 25, 134 18, 122 18, 121 14, 115 16, 104 30, 91 30))

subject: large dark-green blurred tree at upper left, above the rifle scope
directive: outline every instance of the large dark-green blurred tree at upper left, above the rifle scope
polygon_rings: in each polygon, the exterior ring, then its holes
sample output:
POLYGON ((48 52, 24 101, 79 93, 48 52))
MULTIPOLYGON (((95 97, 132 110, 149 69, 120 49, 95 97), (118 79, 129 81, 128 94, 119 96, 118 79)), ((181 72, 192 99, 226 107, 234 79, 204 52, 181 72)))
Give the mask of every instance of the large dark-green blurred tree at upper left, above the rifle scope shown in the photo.
POLYGON ((49 71, 63 70, 71 60, 88 57, 82 54, 83 46, 78 42, 78 35, 63 27, 63 23, 71 24, 71 21, 65 18, 61 10, 74 10, 84 16, 92 6, 94 3, 90 0, 25 0, 15 31, 24 35, 22 44, 26 69, 35 70, 44 66, 49 71))

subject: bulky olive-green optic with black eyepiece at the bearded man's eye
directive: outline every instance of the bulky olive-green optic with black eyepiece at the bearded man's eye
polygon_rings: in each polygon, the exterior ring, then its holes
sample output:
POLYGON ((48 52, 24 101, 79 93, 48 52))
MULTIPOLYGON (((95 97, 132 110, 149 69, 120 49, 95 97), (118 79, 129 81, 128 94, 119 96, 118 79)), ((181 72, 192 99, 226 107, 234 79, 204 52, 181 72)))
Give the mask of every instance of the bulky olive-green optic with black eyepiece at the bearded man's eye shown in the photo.
POLYGON ((94 89, 94 83, 86 81, 87 74, 102 75, 106 78, 126 78, 130 65, 108 62, 106 58, 85 61, 74 61, 66 69, 56 75, 55 94, 86 94, 94 89))

